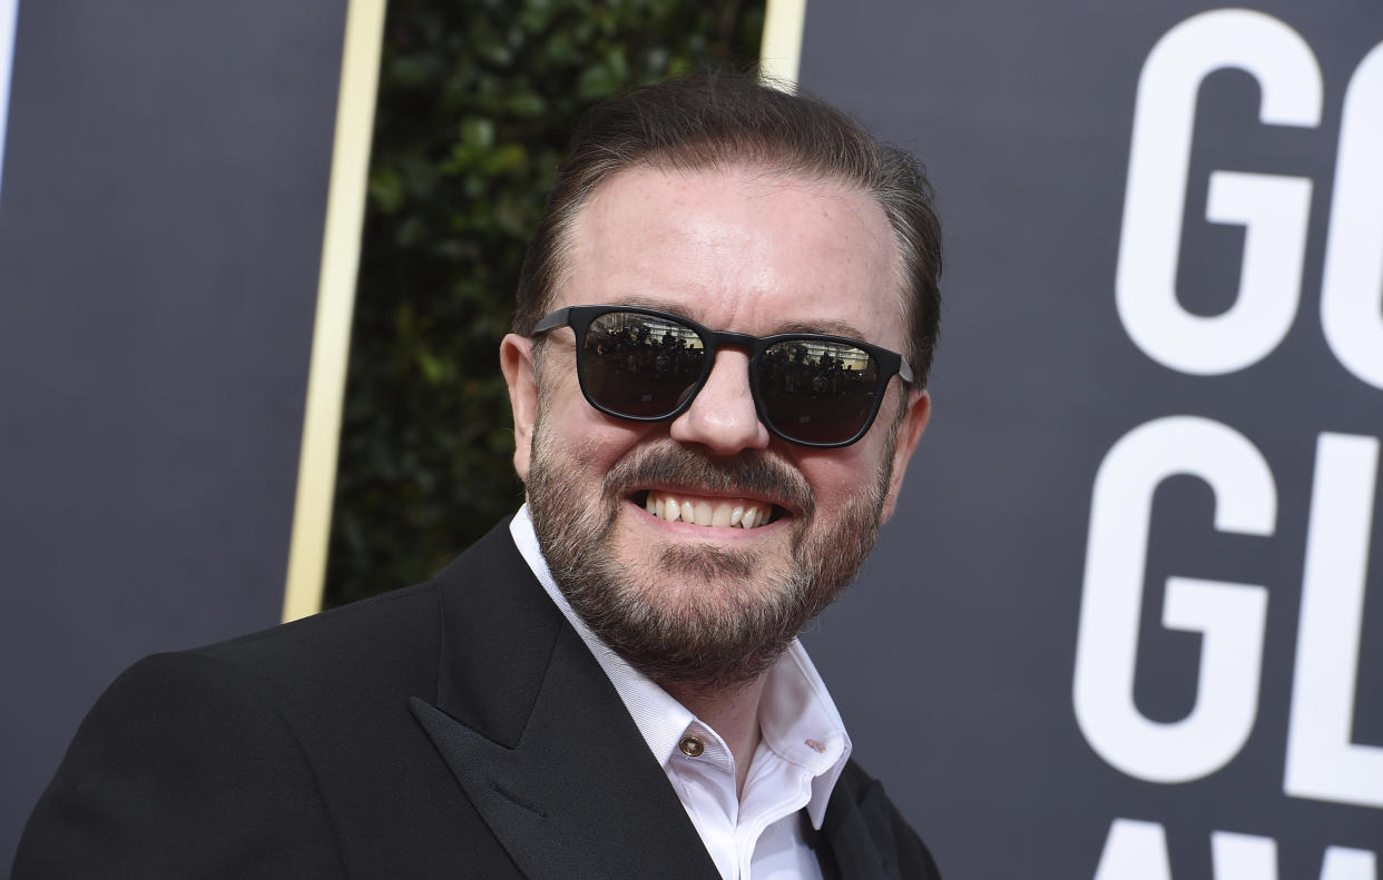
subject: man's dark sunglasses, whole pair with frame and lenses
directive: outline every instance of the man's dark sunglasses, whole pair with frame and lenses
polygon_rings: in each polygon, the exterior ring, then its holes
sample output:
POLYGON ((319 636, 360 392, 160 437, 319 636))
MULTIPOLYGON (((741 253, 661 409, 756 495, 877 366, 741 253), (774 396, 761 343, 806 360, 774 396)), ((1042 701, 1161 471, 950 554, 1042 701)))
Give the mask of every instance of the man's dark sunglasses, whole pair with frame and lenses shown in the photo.
POLYGON ((632 305, 568 305, 534 325, 577 334, 581 394, 600 412, 632 421, 680 416, 705 385, 722 345, 750 352, 750 394, 759 421, 802 446, 849 446, 864 437, 888 380, 911 384, 898 352, 820 333, 750 336, 632 305))

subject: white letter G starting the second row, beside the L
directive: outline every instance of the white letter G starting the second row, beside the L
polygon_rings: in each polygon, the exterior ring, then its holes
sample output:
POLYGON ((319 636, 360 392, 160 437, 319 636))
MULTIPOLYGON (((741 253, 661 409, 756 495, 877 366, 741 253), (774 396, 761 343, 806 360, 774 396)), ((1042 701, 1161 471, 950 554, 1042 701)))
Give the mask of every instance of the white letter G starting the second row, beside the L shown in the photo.
POLYGON ((1259 707, 1267 591, 1191 577, 1167 579, 1162 623, 1202 633, 1196 703, 1173 723, 1151 721, 1134 705, 1152 495, 1177 474, 1210 485, 1217 530, 1265 536, 1277 524, 1268 463, 1218 421, 1149 421, 1120 438, 1099 464, 1076 637, 1076 721, 1099 757, 1148 782, 1188 782, 1224 767, 1243 747, 1259 707))

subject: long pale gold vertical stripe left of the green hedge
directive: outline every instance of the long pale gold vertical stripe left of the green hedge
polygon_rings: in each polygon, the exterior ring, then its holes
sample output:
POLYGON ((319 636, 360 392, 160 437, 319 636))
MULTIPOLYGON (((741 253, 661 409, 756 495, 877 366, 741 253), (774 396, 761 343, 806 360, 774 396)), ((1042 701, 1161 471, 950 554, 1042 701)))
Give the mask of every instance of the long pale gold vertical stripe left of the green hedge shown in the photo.
POLYGON ((303 448, 297 461, 297 497, 288 550, 284 620, 317 613, 326 577, 326 543, 336 488, 342 398, 350 350, 360 236, 365 218, 369 141, 379 90, 379 54, 384 35, 386 0, 350 0, 342 50, 340 94, 332 174, 326 191, 326 229, 322 268, 317 282, 317 319, 313 358, 307 372, 303 448))

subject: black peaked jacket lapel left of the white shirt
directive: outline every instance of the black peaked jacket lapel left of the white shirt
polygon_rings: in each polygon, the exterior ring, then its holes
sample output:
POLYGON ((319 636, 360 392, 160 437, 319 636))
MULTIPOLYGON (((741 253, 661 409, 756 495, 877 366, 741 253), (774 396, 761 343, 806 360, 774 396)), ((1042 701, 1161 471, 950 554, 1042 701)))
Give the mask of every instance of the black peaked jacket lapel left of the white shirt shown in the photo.
POLYGON ((614 687, 501 528, 438 579, 438 694, 414 716, 532 880, 714 880, 614 687))

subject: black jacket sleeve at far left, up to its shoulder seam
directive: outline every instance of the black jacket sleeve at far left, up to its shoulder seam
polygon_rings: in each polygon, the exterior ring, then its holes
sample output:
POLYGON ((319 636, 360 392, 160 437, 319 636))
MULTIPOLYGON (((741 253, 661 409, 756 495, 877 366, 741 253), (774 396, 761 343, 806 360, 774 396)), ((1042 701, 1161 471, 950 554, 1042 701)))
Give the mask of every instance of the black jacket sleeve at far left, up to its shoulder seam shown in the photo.
POLYGON ((339 870, 292 731, 252 687, 192 653, 147 658, 97 700, 14 865, 17 879, 339 870), (266 858, 246 863, 249 852, 266 858))

